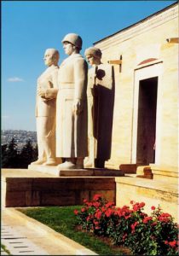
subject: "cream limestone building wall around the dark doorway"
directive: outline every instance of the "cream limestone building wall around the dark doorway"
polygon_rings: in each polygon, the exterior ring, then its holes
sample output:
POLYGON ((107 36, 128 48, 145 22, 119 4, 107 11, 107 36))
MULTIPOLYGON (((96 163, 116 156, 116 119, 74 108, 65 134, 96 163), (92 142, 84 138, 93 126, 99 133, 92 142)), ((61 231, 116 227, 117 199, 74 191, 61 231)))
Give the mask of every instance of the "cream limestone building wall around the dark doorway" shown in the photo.
POLYGON ((141 79, 153 77, 158 77, 153 163, 168 170, 178 166, 178 44, 168 43, 167 38, 178 38, 177 4, 95 43, 103 63, 122 55, 121 73, 114 65, 113 143, 108 167, 137 162, 137 90, 141 79))

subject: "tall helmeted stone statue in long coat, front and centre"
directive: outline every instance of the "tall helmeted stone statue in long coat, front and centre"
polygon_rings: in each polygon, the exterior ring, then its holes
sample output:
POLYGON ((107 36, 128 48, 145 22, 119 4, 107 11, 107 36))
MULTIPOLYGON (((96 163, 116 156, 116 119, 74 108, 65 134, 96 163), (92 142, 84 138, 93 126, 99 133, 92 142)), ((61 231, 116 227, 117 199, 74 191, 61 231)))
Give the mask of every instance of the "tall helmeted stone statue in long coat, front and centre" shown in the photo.
POLYGON ((65 160, 59 169, 84 168, 88 152, 87 79, 88 64, 79 54, 82 38, 69 33, 62 40, 66 55, 59 69, 56 100, 56 156, 65 160))

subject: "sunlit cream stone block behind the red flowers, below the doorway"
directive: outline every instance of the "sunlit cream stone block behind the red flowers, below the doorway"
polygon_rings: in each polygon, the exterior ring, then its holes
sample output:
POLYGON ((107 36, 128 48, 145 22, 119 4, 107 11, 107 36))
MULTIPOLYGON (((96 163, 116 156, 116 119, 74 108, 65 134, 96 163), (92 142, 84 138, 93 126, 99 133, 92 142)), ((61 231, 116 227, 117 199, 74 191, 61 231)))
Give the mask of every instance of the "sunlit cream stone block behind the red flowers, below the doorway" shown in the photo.
POLYGON ((130 201, 145 202, 144 212, 151 213, 151 207, 160 206, 169 212, 178 223, 178 186, 140 177, 116 177, 116 205, 130 205, 130 201))

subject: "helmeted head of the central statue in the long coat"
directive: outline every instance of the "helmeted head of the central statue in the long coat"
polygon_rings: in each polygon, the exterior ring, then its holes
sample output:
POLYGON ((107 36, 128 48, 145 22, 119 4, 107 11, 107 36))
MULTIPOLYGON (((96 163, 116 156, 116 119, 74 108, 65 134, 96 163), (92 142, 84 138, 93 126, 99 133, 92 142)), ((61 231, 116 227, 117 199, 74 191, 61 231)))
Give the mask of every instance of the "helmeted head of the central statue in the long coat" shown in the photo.
MULTIPOLYGON (((77 52, 80 51, 80 49, 82 49, 82 38, 80 36, 78 36, 78 34, 75 33, 69 33, 65 36, 65 38, 63 38, 63 40, 61 41, 61 43, 64 45, 64 49, 65 49, 65 45, 67 44, 72 44, 72 49, 76 50, 77 52)), ((66 52, 66 49, 65 49, 66 52)), ((71 51, 68 53, 66 52, 67 55, 71 55, 71 51)))

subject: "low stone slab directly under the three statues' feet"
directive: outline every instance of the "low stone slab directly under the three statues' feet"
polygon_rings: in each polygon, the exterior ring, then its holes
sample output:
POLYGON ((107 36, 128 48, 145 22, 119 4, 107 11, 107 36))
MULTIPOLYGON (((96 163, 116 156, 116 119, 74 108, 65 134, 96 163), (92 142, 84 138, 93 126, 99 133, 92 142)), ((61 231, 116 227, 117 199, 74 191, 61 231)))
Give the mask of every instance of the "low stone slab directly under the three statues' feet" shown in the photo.
POLYGON ((59 166, 29 165, 28 170, 55 175, 56 177, 120 177, 123 171, 107 168, 60 169, 59 166))

